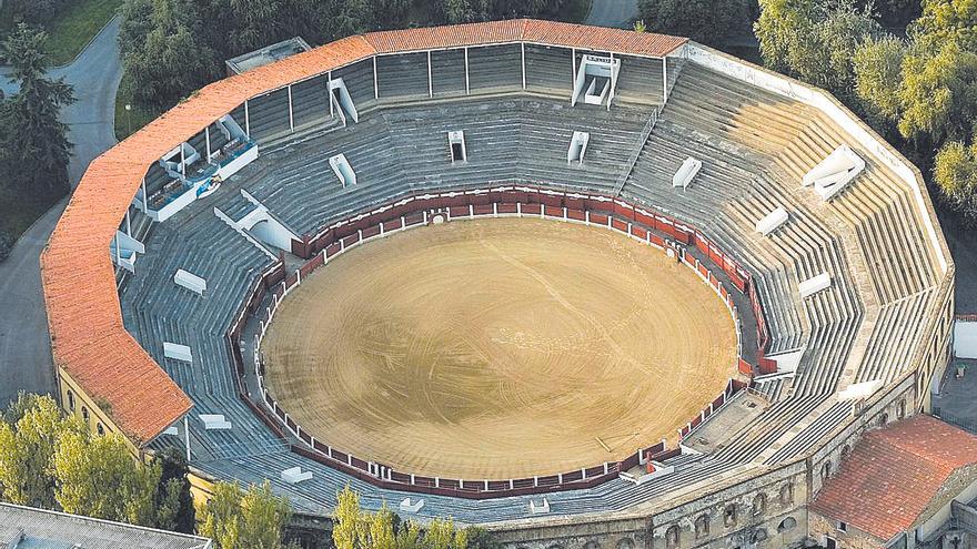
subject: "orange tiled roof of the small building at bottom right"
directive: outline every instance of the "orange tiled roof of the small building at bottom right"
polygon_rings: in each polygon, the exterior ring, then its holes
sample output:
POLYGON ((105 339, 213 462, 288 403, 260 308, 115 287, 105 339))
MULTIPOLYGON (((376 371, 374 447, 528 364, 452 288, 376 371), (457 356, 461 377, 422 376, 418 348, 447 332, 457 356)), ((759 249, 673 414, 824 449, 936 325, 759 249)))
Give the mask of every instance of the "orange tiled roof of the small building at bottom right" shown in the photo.
POLYGON ((958 468, 977 464, 977 437, 915 416, 863 438, 810 504, 883 541, 908 529, 958 468))

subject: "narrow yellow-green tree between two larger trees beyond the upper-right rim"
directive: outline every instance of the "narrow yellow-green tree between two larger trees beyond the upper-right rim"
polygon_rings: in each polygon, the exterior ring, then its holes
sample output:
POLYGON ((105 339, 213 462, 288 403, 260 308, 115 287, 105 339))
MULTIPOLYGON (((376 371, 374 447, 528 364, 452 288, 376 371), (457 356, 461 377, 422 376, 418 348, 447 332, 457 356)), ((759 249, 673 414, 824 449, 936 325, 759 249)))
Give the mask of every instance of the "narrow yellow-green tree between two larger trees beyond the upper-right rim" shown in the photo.
POLYGON ((855 50, 855 95, 876 128, 899 119, 905 55, 905 42, 893 35, 869 38, 855 50))

